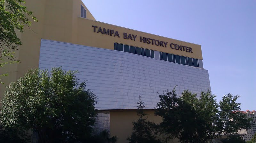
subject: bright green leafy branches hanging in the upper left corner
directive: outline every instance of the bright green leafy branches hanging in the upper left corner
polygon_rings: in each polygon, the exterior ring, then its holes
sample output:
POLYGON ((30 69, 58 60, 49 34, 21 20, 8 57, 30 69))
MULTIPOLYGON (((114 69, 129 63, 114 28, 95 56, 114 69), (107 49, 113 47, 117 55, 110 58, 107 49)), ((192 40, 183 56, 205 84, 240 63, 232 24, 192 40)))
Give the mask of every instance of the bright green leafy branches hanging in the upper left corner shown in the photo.
MULTIPOLYGON (((24 0, 0 0, 0 67, 7 63, 18 62, 13 55, 21 45, 16 32, 24 32, 24 26, 31 25, 28 18, 37 21, 32 16, 33 12, 28 11, 23 4, 25 4, 24 0), (10 61, 4 62, 4 57, 10 61)), ((7 75, 0 75, 0 79, 7 75)))

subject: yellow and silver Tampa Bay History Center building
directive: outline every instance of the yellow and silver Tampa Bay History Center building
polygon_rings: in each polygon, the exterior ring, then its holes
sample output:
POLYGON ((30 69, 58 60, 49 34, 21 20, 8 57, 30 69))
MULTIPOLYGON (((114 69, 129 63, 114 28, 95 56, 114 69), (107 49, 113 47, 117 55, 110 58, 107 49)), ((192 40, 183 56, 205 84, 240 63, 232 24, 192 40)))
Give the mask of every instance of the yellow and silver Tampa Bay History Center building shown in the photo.
MULTIPOLYGON (((80 81, 99 96, 98 128, 125 143, 137 118, 139 95, 148 119, 157 122, 154 107, 158 92, 176 87, 177 94, 211 89, 203 67, 201 46, 96 21, 81 0, 26 0, 38 22, 19 33, 19 64, 6 65, 0 74, 6 84, 29 68, 62 66, 78 70, 80 81)), ((0 85, 0 97, 4 94, 0 85)))

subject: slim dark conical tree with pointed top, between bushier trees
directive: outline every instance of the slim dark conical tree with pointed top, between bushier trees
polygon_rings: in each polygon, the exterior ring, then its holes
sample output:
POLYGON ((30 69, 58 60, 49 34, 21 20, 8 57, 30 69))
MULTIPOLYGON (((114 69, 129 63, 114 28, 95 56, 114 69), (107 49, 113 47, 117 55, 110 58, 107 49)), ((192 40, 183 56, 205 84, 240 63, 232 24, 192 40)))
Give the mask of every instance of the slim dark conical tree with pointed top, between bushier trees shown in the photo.
POLYGON ((160 139, 157 139, 156 124, 147 120, 147 114, 143 111, 144 103, 139 96, 139 102, 137 115, 139 116, 137 121, 133 121, 133 132, 130 137, 127 138, 129 143, 160 143, 160 139))

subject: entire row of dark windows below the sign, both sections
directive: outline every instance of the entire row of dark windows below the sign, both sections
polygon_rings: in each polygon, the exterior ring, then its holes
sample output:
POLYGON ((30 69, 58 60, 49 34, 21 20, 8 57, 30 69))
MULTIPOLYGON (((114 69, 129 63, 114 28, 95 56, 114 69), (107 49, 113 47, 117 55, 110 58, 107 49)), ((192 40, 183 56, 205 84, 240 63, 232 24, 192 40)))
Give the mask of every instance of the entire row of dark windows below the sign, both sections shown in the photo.
MULTIPOLYGON (((116 51, 123 51, 127 53, 138 54, 146 57, 155 58, 154 50, 149 50, 145 48, 129 46, 129 45, 124 45, 120 43, 114 43, 114 49, 116 51)), ((164 52, 159 52, 159 54, 160 54, 160 60, 163 60, 163 61, 170 61, 170 62, 182 64, 182 65, 199 67, 198 59, 164 53, 164 52)))

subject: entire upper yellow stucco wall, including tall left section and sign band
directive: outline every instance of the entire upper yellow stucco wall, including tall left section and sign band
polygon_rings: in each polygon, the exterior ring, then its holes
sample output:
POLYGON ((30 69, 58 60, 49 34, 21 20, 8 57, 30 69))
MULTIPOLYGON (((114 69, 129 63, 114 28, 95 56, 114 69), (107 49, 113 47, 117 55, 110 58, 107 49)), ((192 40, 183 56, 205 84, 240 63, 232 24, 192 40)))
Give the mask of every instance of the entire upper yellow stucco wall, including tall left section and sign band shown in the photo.
POLYGON ((19 46, 20 50, 16 51, 15 55, 20 63, 6 65, 0 69, 0 74, 9 73, 8 77, 2 77, 5 84, 0 84, 0 99, 2 99, 7 84, 23 76, 29 68, 38 68, 41 39, 107 49, 114 49, 114 42, 117 42, 202 59, 200 45, 95 21, 81 0, 66 0, 65 2, 63 0, 26 0, 25 5, 29 11, 34 12, 33 15, 38 19, 38 22, 32 22, 30 26, 32 30, 25 27, 24 33, 18 33, 22 45, 19 46), (80 17, 81 4, 86 9, 86 18, 80 17), (101 27, 102 30, 106 28, 115 32, 118 31, 120 37, 114 36, 114 34, 110 36, 98 33, 98 29, 94 32, 92 25, 101 27), (124 32, 137 35, 136 40, 124 39, 124 32), (140 42, 140 36, 168 43, 166 47, 146 44, 140 42), (172 49, 171 43, 191 47, 193 53, 172 49))

